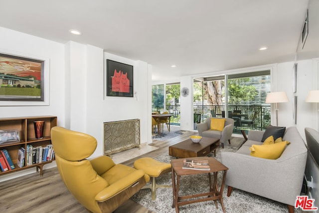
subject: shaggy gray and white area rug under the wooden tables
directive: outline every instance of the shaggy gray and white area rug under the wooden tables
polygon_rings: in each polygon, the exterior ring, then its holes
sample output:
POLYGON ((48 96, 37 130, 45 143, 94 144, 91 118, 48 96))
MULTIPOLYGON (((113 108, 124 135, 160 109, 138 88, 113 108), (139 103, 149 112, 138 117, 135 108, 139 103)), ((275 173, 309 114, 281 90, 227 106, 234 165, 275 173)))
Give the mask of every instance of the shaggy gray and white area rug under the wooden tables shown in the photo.
MULTIPOLYGON (((224 149, 218 148, 216 151, 216 159, 220 161, 220 152, 236 152, 237 148, 225 146, 224 149)), ((213 157, 213 154, 210 155, 213 157)), ((169 163, 173 157, 168 154, 163 154, 156 158, 160 162, 169 163)), ((218 174, 218 186, 221 184, 222 173, 218 174)), ((212 177, 213 178, 213 177, 212 177)), ((171 173, 161 175, 157 178, 157 184, 171 185, 171 173)), ((180 195, 191 195, 203 192, 208 192, 209 183, 208 175, 183 176, 180 178, 180 195)), ((151 190, 140 190, 131 199, 136 203, 148 208, 155 213, 175 213, 172 205, 172 189, 160 188, 157 189, 156 201, 151 199, 151 190)), ((227 197, 227 186, 223 190, 223 203, 227 213, 287 213, 287 205, 253 195, 241 190, 233 189, 230 197, 227 197)), ((217 201, 218 209, 214 202, 200 202, 179 207, 180 213, 222 213, 222 207, 217 201)), ((301 211, 295 210, 295 213, 301 211)))

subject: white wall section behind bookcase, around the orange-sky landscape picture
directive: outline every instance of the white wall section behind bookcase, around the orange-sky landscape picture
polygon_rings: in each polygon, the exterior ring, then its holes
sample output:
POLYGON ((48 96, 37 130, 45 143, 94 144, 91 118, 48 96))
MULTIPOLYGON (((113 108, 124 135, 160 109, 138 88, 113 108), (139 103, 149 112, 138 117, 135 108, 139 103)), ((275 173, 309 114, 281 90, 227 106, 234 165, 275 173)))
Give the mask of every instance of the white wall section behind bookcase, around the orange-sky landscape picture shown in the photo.
MULTIPOLYGON (((1 50, 20 52, 24 56, 49 58, 50 84, 49 105, 45 106, 0 106, 0 117, 25 117, 25 116, 57 116, 58 125, 65 125, 65 99, 64 99, 64 45, 54 41, 46 40, 25 33, 0 27, 1 50)), ((44 169, 54 167, 55 163, 44 166, 44 169)), ((0 182, 21 175, 34 173, 35 168, 23 170, 0 176, 0 182)), ((44 173, 45 174, 45 173, 44 173)))

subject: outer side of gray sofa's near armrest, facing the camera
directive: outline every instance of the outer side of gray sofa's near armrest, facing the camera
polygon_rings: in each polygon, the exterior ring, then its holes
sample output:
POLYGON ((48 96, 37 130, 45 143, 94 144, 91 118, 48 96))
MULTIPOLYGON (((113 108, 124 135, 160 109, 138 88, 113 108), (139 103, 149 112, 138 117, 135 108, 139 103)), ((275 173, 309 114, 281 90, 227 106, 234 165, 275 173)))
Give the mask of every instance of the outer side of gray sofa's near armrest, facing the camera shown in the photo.
POLYGON ((286 160, 221 153, 221 163, 229 169, 227 186, 292 206, 300 195, 306 160, 307 153, 286 160))

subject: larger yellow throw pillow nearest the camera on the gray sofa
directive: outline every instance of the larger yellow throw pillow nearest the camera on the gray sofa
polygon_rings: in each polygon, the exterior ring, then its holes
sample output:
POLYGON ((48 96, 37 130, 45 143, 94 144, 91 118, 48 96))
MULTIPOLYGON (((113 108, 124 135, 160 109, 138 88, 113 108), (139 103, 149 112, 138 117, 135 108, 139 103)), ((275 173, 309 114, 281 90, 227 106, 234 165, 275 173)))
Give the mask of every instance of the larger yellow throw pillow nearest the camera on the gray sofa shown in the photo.
POLYGON ((276 160, 284 152, 287 142, 279 142, 277 144, 269 145, 252 145, 250 155, 258 158, 266 158, 276 160))

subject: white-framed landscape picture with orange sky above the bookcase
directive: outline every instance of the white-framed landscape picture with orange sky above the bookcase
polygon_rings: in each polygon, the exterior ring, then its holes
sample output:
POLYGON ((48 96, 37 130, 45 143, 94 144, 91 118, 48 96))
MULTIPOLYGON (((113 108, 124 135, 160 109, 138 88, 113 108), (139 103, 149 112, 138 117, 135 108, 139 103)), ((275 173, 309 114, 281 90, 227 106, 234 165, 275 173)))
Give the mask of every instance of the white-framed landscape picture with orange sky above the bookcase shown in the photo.
POLYGON ((49 59, 0 49, 0 106, 48 105, 49 59))

